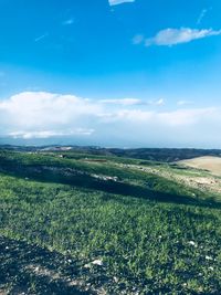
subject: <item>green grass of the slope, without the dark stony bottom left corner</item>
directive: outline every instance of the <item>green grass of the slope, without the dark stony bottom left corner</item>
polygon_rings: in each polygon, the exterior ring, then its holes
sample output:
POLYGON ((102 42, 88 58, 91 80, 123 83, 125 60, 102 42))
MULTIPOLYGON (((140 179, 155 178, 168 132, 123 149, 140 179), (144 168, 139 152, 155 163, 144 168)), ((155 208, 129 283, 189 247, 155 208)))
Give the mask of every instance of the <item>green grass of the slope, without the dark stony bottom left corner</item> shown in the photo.
MULTIPOLYGON (((138 160, 88 162, 90 156, 66 157, 1 154, 1 235, 71 255, 83 271, 69 276, 91 287, 101 284, 108 294, 220 294, 220 209, 200 201, 200 194, 192 199, 189 188, 114 164, 138 160), (42 170, 45 166, 75 170, 42 170), (36 168, 40 172, 33 173, 36 168), (83 186, 75 181, 76 170, 117 176, 128 196, 107 181, 110 193, 104 181, 88 175, 80 175, 87 182, 83 186), (103 265, 93 265, 95 260, 103 265)), ((61 273, 66 272, 64 265, 61 273)), ((0 278, 4 285, 11 283, 11 289, 21 285, 11 276, 0 278)), ((38 293, 38 282, 32 281, 25 287, 38 293)))

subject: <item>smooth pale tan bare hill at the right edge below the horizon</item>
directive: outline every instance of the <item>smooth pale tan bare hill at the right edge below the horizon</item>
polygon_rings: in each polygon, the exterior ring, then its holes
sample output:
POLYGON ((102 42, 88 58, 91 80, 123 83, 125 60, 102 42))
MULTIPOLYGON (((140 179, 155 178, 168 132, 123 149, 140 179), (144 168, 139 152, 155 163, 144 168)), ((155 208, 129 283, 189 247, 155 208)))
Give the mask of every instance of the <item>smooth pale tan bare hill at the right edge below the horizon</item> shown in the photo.
POLYGON ((212 157, 212 156, 198 157, 198 158, 193 158, 189 160, 181 160, 179 161, 179 164, 187 166, 187 167, 204 169, 215 176, 221 176, 221 158, 220 157, 212 157))

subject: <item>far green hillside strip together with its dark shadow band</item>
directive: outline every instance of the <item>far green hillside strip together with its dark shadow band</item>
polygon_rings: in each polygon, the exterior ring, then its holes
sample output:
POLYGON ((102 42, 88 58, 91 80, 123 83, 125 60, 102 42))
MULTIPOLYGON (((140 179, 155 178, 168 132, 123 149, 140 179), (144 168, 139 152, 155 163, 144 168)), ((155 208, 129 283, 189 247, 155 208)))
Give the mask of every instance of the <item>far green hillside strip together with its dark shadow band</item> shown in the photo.
POLYGON ((92 166, 78 160, 61 159, 51 154, 24 156, 22 152, 0 152, 0 171, 24 179, 70 185, 161 202, 220 206, 211 201, 212 197, 203 199, 202 192, 162 177, 127 171, 104 162, 92 166), (104 173, 109 178, 104 179, 104 173), (112 177, 116 177, 117 181, 112 177))

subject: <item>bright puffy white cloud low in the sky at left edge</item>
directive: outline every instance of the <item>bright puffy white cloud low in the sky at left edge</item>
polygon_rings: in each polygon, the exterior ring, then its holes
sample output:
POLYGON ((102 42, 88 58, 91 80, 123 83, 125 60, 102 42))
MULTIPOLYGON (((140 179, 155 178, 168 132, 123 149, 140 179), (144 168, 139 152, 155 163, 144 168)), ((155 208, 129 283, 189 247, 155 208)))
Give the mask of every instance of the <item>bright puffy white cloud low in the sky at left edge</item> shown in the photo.
POLYGON ((17 137, 85 134, 99 112, 98 104, 74 95, 24 92, 0 101, 0 133, 17 137))

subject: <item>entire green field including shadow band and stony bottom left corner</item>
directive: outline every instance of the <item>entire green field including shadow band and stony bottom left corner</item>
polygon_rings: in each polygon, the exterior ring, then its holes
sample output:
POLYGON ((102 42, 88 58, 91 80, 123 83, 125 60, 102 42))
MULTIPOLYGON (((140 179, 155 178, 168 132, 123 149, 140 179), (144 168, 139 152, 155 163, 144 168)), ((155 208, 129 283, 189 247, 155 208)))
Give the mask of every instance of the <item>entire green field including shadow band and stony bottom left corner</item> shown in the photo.
POLYGON ((1 150, 0 294, 221 294, 220 178, 211 189, 192 175, 211 178, 157 161, 1 150))

